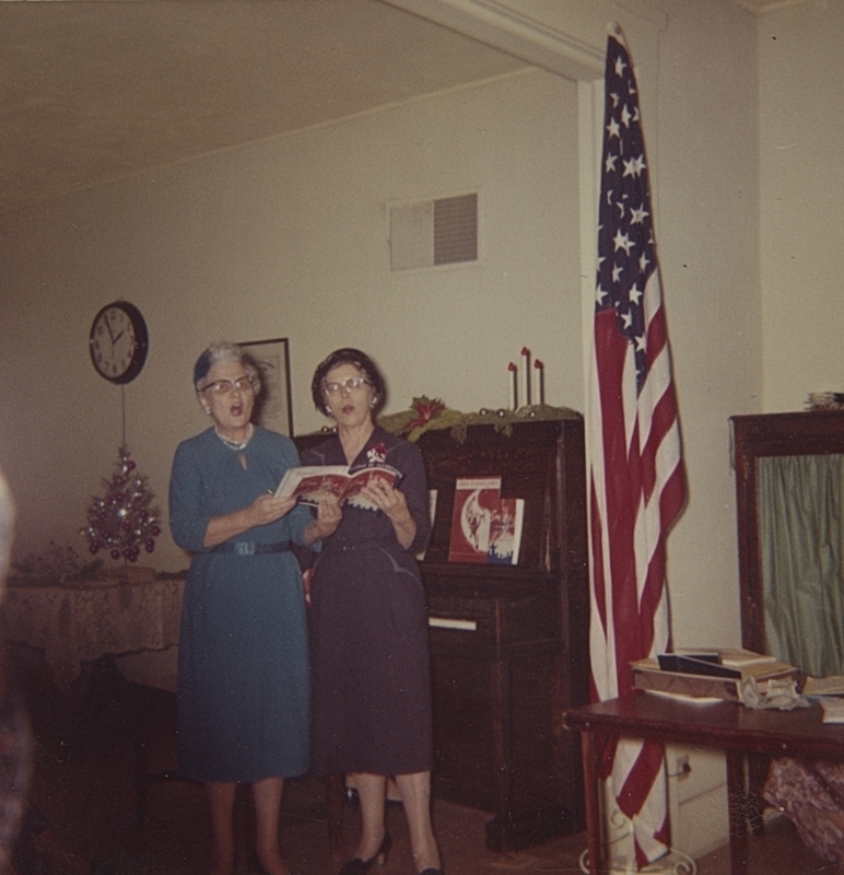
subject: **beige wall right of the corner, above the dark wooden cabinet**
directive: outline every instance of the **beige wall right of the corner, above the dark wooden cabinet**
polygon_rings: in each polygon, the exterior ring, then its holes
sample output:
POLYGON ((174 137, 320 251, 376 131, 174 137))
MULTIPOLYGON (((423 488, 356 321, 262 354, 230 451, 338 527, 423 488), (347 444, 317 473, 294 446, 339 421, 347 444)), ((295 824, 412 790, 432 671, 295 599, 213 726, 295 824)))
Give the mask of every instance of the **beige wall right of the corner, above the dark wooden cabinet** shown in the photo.
POLYGON ((763 408, 844 388, 844 3, 807 3, 759 27, 763 408))

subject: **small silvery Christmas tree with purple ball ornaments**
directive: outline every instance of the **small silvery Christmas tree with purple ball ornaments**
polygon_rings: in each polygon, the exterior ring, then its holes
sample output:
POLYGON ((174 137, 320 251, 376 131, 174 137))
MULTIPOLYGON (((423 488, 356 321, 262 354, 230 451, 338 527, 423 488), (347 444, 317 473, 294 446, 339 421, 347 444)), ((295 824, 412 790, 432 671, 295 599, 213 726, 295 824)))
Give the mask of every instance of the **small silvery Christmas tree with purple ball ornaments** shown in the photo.
POLYGON ((122 557, 124 564, 136 562, 143 547, 155 549, 161 534, 160 511, 152 506, 154 498, 145 475, 129 458, 129 448, 119 446, 119 458, 110 480, 103 478, 105 495, 93 498, 87 508, 87 525, 81 529, 87 537, 87 549, 96 556, 108 550, 112 559, 122 557))

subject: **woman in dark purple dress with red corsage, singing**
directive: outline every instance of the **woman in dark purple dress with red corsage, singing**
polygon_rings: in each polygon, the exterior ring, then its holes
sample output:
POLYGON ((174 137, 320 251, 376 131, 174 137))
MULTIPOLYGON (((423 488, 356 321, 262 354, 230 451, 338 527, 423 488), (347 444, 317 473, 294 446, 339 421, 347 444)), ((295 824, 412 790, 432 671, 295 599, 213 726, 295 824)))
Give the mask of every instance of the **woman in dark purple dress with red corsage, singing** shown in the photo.
POLYGON ((347 502, 338 509, 314 564, 312 761, 319 774, 352 777, 363 821, 341 875, 362 875, 389 850, 388 775, 401 793, 417 872, 439 875, 431 826, 427 615, 414 559, 430 530, 422 454, 377 427, 386 387, 360 350, 332 352, 316 369, 312 395, 336 421, 337 434, 304 453, 304 465, 386 465, 399 472, 394 486, 375 480, 365 487, 374 506, 347 502))

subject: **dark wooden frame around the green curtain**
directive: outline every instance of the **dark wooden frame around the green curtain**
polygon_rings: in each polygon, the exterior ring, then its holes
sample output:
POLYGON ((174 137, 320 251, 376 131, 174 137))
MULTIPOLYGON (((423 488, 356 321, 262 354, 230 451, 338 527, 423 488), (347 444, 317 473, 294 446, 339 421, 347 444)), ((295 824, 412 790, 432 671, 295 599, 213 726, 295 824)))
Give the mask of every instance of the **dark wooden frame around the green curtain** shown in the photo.
POLYGON ((844 453, 844 410, 730 417, 736 470, 741 644, 767 652, 759 542, 758 460, 764 456, 844 453))

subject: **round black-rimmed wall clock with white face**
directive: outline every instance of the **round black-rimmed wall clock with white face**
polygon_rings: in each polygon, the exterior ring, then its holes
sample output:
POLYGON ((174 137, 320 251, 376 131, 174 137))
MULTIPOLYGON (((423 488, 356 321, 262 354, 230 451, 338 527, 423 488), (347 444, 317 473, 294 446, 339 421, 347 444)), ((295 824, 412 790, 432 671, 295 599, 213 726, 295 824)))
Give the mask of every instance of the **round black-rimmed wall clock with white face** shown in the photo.
POLYGON ((146 323, 134 304, 115 301, 94 316, 89 337, 91 361, 96 372, 118 385, 141 373, 146 361, 146 323))

